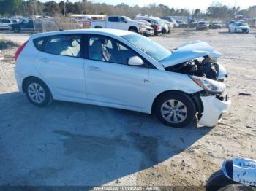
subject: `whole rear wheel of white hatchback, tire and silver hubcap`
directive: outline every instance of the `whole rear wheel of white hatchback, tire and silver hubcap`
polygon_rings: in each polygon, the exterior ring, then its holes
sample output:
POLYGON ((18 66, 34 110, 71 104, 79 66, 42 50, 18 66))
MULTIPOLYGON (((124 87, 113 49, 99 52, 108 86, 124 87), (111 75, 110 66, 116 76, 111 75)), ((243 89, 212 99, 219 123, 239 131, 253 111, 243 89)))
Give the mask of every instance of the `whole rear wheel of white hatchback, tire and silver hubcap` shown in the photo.
POLYGON ((49 88, 39 79, 29 79, 25 84, 25 92, 29 101, 35 106, 47 106, 53 100, 49 88))

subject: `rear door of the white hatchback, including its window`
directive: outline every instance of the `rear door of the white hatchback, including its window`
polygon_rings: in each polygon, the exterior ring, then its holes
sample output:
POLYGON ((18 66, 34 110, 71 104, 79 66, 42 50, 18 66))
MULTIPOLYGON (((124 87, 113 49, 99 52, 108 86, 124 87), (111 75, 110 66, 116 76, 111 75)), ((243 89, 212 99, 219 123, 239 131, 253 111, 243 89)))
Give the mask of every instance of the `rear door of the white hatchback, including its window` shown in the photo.
POLYGON ((81 34, 36 39, 37 70, 59 99, 85 99, 84 60, 81 34))

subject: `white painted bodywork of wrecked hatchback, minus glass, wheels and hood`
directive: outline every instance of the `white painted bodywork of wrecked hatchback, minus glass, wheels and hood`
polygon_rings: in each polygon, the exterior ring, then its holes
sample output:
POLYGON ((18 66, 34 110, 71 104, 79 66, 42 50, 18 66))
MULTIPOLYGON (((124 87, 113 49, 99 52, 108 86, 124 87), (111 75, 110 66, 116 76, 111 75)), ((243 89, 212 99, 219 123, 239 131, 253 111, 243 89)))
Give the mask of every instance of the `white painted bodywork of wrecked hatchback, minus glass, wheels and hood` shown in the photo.
MULTIPOLYGON (((110 106, 148 114, 151 113, 155 98, 161 93, 178 90, 192 94, 203 90, 188 75, 165 71, 161 63, 120 37, 126 34, 132 32, 99 29, 58 31, 31 36, 16 61, 15 76, 19 90, 22 90, 23 79, 38 77, 48 85, 56 100, 110 106), (33 39, 56 34, 110 36, 127 44, 127 47, 146 58, 156 69, 51 55, 34 47, 33 39)), ((216 125, 219 114, 227 112, 230 107, 230 101, 222 103, 214 97, 201 99, 204 112, 200 125, 216 125)))

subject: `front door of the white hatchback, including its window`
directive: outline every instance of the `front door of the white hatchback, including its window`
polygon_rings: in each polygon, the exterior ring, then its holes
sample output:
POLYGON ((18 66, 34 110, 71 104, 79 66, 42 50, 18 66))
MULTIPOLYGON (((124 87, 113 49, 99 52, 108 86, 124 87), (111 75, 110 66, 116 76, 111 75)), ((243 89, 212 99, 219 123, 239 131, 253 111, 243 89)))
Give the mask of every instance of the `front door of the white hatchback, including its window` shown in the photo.
POLYGON ((137 54, 116 39, 94 35, 88 40, 88 99, 141 111, 148 92, 148 68, 127 65, 127 60, 137 54))

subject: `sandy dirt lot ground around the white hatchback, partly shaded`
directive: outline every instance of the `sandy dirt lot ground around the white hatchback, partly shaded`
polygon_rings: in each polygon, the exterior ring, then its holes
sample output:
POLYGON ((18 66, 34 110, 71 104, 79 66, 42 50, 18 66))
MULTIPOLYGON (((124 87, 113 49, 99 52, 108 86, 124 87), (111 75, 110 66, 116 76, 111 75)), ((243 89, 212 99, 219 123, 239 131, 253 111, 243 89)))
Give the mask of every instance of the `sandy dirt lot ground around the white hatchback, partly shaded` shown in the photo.
MULTIPOLYGON (((175 185, 187 190, 205 185, 224 159, 256 158, 255 37, 256 31, 228 34, 226 29, 152 37, 167 48, 202 40, 222 53, 219 63, 229 71, 233 104, 214 128, 168 128, 148 114, 61 101, 37 108, 18 93, 13 61, 0 61, 0 185, 175 185)), ((2 50, 0 58, 15 49, 2 50)))

